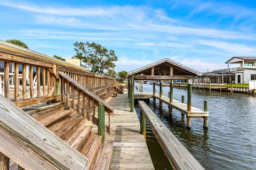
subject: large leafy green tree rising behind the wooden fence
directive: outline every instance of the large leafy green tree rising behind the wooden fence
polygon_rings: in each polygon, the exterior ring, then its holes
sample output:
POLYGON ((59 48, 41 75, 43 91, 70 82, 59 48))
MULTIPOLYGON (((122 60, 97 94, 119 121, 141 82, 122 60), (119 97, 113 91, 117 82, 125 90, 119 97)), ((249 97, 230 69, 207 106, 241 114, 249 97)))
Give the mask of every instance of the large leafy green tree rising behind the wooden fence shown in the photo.
POLYGON ((103 74, 105 70, 114 69, 118 58, 115 51, 108 50, 96 43, 76 42, 74 44, 76 55, 73 58, 81 60, 82 67, 90 69, 91 72, 103 74))

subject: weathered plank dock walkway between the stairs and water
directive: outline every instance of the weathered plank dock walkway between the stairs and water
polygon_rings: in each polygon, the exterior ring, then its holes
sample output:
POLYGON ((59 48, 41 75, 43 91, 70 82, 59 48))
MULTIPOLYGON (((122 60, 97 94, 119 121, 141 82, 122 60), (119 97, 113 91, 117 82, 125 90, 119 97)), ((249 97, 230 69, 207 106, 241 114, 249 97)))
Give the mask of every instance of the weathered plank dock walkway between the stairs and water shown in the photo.
POLYGON ((111 169, 154 169, 146 141, 140 134, 138 116, 130 112, 127 92, 111 98, 108 103, 114 107, 114 117, 111 117, 114 135, 106 135, 106 141, 114 141, 111 169))

